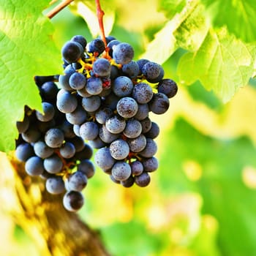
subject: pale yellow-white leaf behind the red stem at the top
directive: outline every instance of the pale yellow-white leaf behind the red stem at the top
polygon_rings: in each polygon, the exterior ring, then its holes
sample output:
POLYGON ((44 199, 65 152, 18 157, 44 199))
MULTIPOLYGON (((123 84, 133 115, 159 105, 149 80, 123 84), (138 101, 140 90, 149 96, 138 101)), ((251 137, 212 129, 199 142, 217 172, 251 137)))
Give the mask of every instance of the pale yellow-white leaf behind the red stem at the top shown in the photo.
MULTIPOLYGON (((110 1, 102 1, 101 8, 105 12, 103 22, 105 35, 107 36, 112 31, 115 22, 115 4, 113 4, 113 1, 112 3, 110 1)), ((94 1, 77 0, 75 1, 75 5, 72 6, 72 10, 86 21, 92 37, 97 37, 99 35, 99 21, 94 1)))

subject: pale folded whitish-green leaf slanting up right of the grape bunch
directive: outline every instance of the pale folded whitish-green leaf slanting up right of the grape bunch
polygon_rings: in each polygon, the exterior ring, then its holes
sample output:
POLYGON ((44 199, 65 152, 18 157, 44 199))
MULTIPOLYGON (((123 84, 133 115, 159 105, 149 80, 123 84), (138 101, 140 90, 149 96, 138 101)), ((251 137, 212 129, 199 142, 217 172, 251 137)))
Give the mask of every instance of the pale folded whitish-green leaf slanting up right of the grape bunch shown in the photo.
POLYGON ((197 50, 208 32, 204 7, 197 0, 189 1, 184 9, 155 34, 140 58, 164 63, 178 49, 197 50))

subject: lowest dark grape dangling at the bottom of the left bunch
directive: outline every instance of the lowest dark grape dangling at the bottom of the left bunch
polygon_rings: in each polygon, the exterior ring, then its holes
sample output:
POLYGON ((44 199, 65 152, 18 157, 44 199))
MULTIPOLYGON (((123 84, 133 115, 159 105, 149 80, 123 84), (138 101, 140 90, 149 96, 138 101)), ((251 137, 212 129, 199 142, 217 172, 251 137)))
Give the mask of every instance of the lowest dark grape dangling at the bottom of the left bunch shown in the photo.
POLYGON ((69 191, 63 197, 63 206, 67 211, 78 211, 84 203, 83 194, 78 191, 69 191))

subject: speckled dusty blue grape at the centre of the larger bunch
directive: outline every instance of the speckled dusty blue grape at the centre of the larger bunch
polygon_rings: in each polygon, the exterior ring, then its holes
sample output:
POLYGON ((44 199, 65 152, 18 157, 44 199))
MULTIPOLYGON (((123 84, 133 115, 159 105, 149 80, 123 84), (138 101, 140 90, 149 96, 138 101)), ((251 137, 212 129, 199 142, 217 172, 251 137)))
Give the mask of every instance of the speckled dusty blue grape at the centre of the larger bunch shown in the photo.
POLYGON ((131 118, 138 111, 138 103, 131 97, 124 97, 117 102, 116 110, 120 116, 131 118))

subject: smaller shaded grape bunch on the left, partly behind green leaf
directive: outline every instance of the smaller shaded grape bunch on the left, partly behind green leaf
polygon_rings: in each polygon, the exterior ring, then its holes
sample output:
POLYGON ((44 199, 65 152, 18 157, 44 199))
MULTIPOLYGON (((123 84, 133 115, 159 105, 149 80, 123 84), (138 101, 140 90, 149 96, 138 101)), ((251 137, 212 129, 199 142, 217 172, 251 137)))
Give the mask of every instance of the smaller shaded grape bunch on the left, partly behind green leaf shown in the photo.
POLYGON ((56 107, 59 88, 53 79, 36 77, 43 112, 25 107, 23 121, 17 122, 15 154, 25 162, 26 173, 45 179, 45 189, 50 194, 64 193, 64 207, 77 211, 84 202, 81 191, 94 175, 90 160, 93 151, 75 135, 72 124, 56 107))

